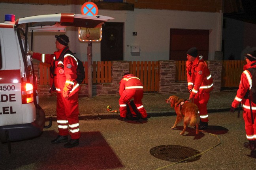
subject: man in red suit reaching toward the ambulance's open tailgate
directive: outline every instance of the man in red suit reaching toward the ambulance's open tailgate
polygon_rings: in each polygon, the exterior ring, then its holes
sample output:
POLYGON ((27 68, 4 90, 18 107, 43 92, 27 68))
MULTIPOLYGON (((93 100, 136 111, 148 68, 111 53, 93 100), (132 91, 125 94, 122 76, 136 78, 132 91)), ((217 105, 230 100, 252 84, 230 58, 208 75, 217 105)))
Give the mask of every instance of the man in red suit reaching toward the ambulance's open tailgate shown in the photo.
POLYGON ((55 44, 58 51, 53 54, 40 54, 28 51, 28 55, 51 66, 55 65, 50 91, 57 93, 56 115, 59 135, 51 143, 67 142, 64 144, 64 147, 72 148, 73 146, 79 145, 81 134, 78 120, 78 91, 81 87, 79 87, 76 81, 78 63, 68 48, 68 36, 62 34, 55 35, 55 37, 55 44), (63 62, 58 61, 60 55, 64 55, 62 56, 64 58, 63 62), (69 141, 68 134, 71 136, 69 141))

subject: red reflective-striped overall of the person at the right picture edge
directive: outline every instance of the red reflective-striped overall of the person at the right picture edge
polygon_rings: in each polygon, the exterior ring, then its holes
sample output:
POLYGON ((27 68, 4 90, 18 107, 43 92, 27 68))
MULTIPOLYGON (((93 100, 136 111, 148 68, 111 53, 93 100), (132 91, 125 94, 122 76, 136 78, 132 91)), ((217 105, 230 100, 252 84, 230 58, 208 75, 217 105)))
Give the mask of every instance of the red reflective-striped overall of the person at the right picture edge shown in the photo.
POLYGON ((254 124, 252 124, 252 116, 250 113, 250 103, 249 99, 244 98, 247 90, 251 86, 252 75, 247 70, 248 68, 256 68, 256 61, 252 61, 244 66, 243 73, 241 74, 241 81, 239 84, 239 89, 237 90, 237 95, 232 103, 232 107, 236 108, 241 102, 243 107, 243 118, 245 120, 245 132, 248 140, 256 140, 256 103, 252 104, 252 114, 254 119, 254 124), (252 65, 255 64, 255 65, 252 65), (252 65, 252 66, 251 66, 252 65))

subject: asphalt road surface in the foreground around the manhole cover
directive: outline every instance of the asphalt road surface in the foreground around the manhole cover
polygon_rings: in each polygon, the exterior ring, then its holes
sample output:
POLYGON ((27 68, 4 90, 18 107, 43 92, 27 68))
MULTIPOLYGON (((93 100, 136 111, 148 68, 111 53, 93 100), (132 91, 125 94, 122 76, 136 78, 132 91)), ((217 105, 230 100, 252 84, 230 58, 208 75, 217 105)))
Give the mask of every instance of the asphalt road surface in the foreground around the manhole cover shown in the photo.
POLYGON ((80 144, 64 148, 51 144, 57 135, 56 121, 35 139, 0 144, 1 170, 255 170, 256 160, 246 142, 243 118, 236 113, 209 114, 208 133, 195 134, 188 127, 183 136, 179 124, 171 129, 175 116, 149 118, 144 124, 117 119, 80 120, 80 144), (211 134, 210 134, 211 133, 211 134), (219 141, 220 140, 220 141, 219 141), (203 153, 188 163, 164 161, 151 155, 155 146, 179 145, 203 153))

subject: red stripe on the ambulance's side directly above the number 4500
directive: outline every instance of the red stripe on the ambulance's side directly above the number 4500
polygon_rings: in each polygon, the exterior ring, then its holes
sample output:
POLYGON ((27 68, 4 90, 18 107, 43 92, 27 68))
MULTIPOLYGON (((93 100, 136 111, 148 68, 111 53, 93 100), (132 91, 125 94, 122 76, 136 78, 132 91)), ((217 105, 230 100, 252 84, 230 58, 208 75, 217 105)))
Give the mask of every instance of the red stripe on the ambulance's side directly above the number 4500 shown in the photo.
POLYGON ((21 70, 0 70, 0 84, 21 83, 21 70))

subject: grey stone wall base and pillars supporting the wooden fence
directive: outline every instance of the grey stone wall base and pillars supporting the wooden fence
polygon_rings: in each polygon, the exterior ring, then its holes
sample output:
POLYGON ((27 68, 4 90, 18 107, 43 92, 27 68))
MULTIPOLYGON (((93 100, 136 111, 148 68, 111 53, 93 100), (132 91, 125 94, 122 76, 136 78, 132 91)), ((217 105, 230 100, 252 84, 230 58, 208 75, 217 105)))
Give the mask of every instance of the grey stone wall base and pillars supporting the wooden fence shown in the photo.
MULTIPOLYGON (((186 81, 175 81, 176 61, 159 61, 159 89, 160 94, 174 94, 187 92, 186 81)), ((112 61, 112 83, 92 85, 92 95, 119 95, 119 81, 124 73, 129 72, 128 61, 112 61)), ((213 91, 220 91, 222 61, 208 61, 208 67, 213 76, 213 91)), ((38 65, 34 64, 35 74, 38 77, 38 65)), ((39 83, 38 83, 39 84, 39 83)), ((39 96, 51 96, 49 85, 38 85, 39 96)), ((79 96, 88 96, 88 85, 82 84, 79 96)))

